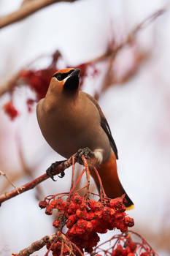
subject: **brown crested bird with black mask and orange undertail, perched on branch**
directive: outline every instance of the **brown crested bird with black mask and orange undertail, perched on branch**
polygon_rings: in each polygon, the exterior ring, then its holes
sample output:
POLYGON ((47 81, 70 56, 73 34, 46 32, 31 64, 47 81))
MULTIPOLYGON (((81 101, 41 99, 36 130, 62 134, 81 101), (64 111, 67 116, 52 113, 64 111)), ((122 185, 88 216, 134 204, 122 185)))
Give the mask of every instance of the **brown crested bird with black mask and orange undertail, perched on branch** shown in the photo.
MULTIPOLYGON (((54 151, 68 159, 81 148, 89 148, 106 195, 116 198, 125 194, 126 208, 134 208, 117 174, 117 146, 107 118, 96 99, 80 90, 80 69, 54 73, 45 98, 36 105, 36 116, 42 135, 54 151)), ((90 176, 99 189, 92 167, 90 176)))

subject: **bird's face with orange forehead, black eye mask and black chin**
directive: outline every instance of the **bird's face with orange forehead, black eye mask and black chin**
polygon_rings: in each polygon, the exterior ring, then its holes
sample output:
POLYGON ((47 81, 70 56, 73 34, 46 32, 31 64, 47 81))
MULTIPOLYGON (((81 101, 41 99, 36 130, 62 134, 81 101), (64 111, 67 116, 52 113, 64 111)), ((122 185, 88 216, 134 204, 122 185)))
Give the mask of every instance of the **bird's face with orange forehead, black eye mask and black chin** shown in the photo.
POLYGON ((80 69, 61 69, 53 75, 53 83, 63 92, 76 92, 79 89, 80 69))

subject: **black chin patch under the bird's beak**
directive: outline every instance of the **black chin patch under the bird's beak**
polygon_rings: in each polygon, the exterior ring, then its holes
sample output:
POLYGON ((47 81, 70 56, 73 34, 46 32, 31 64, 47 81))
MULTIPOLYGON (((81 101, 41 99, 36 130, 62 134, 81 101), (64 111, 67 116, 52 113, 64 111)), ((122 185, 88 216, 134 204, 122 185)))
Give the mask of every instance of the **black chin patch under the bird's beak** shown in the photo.
POLYGON ((64 91, 77 91, 79 88, 79 76, 80 69, 75 69, 74 72, 67 78, 64 83, 63 89, 64 91))

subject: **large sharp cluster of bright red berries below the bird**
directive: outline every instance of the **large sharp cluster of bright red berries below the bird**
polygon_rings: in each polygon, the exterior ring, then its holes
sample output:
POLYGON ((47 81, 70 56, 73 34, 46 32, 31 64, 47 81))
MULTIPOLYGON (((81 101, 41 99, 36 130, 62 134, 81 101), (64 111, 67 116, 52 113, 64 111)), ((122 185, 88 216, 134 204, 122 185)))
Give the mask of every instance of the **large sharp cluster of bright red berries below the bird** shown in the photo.
MULTIPOLYGON (((66 224, 68 228, 66 238, 76 244, 82 251, 92 252, 99 241, 98 233, 107 233, 115 227, 121 232, 134 226, 134 219, 125 214, 124 197, 105 199, 103 202, 89 200, 77 193, 69 195, 65 201, 61 197, 41 201, 39 206, 46 208, 46 214, 53 214, 53 209, 58 209, 60 218, 53 222, 54 227, 66 224), (66 219, 62 223, 63 216, 66 219)), ((53 255, 58 255, 53 253, 53 255)))

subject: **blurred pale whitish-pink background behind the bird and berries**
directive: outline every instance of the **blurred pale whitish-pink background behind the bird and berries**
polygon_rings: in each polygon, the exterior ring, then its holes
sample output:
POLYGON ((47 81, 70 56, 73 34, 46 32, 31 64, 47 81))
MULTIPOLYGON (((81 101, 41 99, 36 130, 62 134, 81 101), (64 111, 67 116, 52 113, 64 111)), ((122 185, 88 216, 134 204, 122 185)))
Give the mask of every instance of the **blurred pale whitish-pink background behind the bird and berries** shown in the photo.
MULTIPOLYGON (((18 10, 22 3, 0 0, 0 15, 18 10)), ((142 20, 166 4, 169 1, 59 2, 0 30, 0 170, 20 187, 62 159, 47 145, 37 124, 37 91, 26 79, 15 79, 12 90, 7 87, 20 69, 51 67, 59 50, 53 67, 81 65, 82 91, 98 99, 107 117, 118 148, 120 180, 135 205, 128 211, 134 217, 133 230, 162 256, 170 255, 169 5, 126 41, 142 20), (13 120, 4 113, 8 102, 18 110, 13 120)), ((38 203, 46 195, 69 190, 70 171, 65 173, 57 182, 47 180, 1 205, 0 255, 17 253, 54 232, 53 219, 38 203)), ((0 176, 0 192, 10 189, 0 176)), ((102 235, 101 241, 106 236, 111 234, 102 235)))

